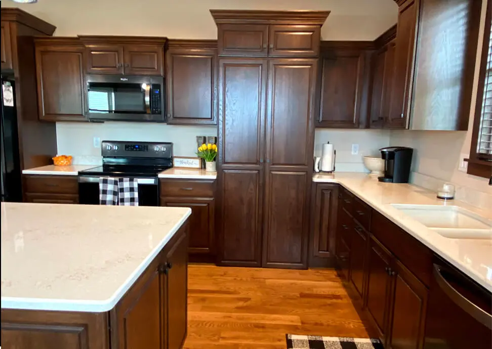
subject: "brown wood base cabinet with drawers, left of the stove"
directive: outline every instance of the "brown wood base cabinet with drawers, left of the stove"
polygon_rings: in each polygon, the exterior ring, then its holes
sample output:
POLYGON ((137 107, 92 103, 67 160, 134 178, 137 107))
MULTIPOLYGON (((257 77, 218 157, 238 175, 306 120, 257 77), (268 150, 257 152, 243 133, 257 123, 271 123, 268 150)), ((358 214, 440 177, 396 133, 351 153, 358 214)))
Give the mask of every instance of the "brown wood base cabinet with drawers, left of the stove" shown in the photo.
POLYGON ((75 176, 23 176, 24 201, 36 203, 78 203, 78 182, 75 176))

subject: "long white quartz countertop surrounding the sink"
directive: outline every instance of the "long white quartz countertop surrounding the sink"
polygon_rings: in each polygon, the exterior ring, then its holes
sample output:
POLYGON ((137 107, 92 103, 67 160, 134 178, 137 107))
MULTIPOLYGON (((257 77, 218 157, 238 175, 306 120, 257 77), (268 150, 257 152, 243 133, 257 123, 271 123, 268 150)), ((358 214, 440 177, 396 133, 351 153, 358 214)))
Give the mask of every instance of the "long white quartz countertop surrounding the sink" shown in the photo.
POLYGON ((444 202, 435 192, 410 184, 381 183, 365 173, 315 173, 313 182, 339 183, 492 292, 492 240, 445 238, 390 204, 453 205, 487 219, 492 219, 492 212, 458 200, 444 202))

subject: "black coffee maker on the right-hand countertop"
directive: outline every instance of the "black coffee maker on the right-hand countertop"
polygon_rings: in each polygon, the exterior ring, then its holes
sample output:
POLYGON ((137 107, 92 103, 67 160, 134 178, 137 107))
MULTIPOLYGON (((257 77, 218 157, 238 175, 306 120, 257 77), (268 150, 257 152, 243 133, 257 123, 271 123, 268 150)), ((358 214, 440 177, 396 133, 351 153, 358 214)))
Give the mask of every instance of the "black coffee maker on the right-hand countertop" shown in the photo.
POLYGON ((378 180, 388 183, 408 183, 414 150, 407 147, 386 147, 380 150, 381 158, 384 159, 384 176, 378 177, 378 180))

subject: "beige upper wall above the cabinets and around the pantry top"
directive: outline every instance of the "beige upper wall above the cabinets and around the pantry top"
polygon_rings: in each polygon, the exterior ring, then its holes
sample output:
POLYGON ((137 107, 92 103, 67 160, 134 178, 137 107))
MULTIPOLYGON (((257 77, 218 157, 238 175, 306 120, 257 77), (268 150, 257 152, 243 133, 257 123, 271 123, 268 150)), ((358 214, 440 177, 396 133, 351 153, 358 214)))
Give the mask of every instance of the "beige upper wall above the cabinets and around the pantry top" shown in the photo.
POLYGON ((393 0, 38 0, 19 7, 57 26, 55 35, 216 38, 209 9, 330 10, 323 40, 374 40, 396 23, 393 0))

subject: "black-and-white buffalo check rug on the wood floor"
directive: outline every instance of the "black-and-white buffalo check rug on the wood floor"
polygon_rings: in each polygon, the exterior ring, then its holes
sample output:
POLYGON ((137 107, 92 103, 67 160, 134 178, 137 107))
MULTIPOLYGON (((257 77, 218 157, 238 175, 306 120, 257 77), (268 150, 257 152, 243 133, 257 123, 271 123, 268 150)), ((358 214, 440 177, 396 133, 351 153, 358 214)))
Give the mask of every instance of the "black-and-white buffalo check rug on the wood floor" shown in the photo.
POLYGON ((287 349, 384 349, 379 339, 286 334, 287 349))

